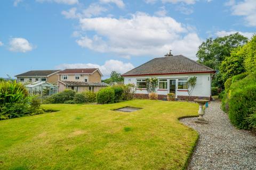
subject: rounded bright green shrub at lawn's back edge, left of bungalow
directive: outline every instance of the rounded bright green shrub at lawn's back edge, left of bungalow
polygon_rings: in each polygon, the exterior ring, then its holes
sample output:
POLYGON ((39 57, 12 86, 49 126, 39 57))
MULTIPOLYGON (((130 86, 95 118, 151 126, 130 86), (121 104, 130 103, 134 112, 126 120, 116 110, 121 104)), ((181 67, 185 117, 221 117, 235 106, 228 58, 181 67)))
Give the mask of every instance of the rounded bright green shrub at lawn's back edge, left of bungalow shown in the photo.
POLYGON ((100 89, 97 93, 97 103, 99 104, 108 104, 114 103, 115 101, 115 91, 113 88, 107 87, 100 89))

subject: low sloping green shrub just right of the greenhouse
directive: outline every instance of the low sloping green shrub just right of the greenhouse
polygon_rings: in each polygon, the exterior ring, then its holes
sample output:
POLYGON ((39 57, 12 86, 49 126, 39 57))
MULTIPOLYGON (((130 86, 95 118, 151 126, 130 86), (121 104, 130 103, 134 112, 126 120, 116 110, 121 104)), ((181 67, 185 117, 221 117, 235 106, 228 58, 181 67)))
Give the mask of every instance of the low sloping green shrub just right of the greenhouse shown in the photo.
POLYGON ((59 92, 58 94, 54 94, 50 97, 48 97, 44 103, 50 103, 50 104, 61 104, 65 103, 65 101, 73 100, 75 97, 76 92, 74 90, 64 90, 62 92, 59 92))

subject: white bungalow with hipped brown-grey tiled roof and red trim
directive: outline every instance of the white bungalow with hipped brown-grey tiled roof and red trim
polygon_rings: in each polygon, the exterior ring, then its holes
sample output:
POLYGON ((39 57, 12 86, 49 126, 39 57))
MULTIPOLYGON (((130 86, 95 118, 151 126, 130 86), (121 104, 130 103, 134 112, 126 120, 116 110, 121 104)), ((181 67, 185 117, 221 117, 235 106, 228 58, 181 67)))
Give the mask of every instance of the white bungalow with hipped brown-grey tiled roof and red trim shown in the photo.
POLYGON ((174 93, 176 98, 187 99, 188 79, 197 77, 196 86, 191 93, 191 98, 211 99, 211 81, 215 70, 183 55, 173 56, 171 53, 165 57, 154 58, 145 64, 135 67, 122 74, 124 83, 133 83, 137 86, 138 97, 148 97, 146 89, 147 78, 158 78, 156 92, 158 99, 163 99, 169 93, 174 93))

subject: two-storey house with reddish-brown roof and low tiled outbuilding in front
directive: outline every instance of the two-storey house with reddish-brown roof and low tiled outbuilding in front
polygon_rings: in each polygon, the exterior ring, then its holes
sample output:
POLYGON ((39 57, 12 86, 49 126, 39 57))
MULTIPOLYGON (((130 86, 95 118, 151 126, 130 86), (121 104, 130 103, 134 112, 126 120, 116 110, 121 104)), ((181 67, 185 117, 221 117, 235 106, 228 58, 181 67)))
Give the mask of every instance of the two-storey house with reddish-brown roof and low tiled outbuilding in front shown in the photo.
POLYGON ((65 89, 82 92, 86 90, 97 92, 109 86, 101 82, 102 73, 99 69, 65 69, 58 72, 59 92, 65 89))

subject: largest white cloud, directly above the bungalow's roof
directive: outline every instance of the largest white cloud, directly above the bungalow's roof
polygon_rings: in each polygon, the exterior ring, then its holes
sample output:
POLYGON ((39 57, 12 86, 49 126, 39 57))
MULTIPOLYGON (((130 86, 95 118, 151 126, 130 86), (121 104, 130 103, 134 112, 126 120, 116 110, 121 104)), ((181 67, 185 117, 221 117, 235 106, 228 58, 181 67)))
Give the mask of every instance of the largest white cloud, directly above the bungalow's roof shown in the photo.
POLYGON ((135 13, 129 19, 84 18, 81 31, 94 31, 92 37, 82 36, 77 44, 101 53, 120 56, 162 56, 170 49, 196 59, 202 40, 171 17, 135 13))

